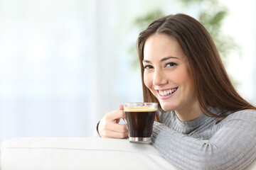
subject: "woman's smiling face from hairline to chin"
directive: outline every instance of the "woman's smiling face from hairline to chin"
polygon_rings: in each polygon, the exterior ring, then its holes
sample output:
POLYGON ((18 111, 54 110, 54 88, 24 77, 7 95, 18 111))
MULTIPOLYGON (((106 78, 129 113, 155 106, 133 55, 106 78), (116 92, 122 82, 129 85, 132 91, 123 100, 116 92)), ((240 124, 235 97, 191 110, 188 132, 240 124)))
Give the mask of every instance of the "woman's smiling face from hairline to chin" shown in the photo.
POLYGON ((164 111, 189 111, 197 103, 187 57, 175 38, 151 35, 144 45, 144 84, 164 111))

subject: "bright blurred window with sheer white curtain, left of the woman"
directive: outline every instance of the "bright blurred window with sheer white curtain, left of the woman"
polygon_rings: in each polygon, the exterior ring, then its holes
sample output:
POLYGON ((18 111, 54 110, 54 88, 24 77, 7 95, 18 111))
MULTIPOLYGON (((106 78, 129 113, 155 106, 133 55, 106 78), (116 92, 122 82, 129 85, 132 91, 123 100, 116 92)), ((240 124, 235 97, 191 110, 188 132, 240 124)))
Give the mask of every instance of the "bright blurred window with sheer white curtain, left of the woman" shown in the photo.
POLYGON ((0 6, 0 141, 87 135, 90 4, 2 0, 0 6))

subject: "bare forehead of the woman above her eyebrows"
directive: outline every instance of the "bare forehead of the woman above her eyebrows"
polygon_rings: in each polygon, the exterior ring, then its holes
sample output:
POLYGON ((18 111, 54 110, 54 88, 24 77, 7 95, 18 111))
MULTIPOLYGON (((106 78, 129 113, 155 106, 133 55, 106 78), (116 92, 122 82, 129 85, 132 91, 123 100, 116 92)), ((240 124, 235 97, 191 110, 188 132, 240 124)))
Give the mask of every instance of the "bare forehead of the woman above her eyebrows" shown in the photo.
POLYGON ((181 45, 175 38, 157 33, 149 36, 144 45, 144 60, 161 60, 170 56, 180 59, 185 57, 181 45))

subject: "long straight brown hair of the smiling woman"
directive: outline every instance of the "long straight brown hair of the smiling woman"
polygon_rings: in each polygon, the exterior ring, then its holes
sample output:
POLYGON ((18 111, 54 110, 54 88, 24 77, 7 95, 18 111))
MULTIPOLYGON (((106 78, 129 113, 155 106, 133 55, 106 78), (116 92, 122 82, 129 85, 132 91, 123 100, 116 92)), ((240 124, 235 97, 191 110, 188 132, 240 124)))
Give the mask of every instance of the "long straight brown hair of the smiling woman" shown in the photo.
MULTIPOLYGON (((176 38, 181 45, 191 67, 196 95, 203 112, 213 117, 225 118, 224 115, 210 113, 208 107, 217 107, 223 111, 231 111, 231 113, 245 109, 256 110, 255 106, 245 101, 235 91, 206 28, 196 19, 181 13, 159 18, 139 34, 137 50, 142 72, 144 102, 159 103, 144 84, 144 67, 142 65, 144 44, 147 38, 155 33, 176 38)), ((156 121, 159 121, 158 116, 156 121)))

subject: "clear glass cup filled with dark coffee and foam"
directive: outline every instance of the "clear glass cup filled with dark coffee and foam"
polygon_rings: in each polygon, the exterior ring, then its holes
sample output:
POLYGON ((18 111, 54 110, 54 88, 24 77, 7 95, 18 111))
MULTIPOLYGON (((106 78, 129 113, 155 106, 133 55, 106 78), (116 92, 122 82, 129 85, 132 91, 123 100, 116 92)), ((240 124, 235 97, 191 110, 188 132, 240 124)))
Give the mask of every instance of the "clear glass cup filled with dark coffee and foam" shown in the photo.
POLYGON ((157 103, 124 103, 129 142, 151 143, 157 103))

